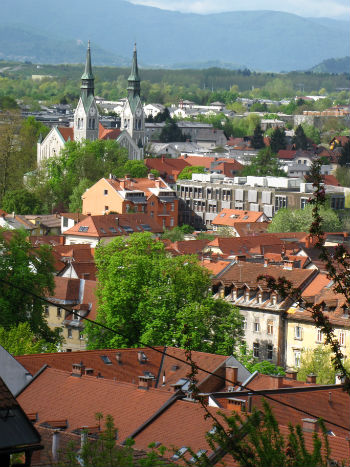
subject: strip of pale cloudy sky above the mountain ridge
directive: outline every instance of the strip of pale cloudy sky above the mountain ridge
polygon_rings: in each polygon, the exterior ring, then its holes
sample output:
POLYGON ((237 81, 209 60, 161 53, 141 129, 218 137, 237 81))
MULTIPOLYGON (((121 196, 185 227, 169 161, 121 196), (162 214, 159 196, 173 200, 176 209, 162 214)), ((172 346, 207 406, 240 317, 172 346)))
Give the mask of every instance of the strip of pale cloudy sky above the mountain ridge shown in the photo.
POLYGON ((239 10, 276 10, 300 16, 349 19, 349 0, 128 0, 184 13, 221 13, 239 10))

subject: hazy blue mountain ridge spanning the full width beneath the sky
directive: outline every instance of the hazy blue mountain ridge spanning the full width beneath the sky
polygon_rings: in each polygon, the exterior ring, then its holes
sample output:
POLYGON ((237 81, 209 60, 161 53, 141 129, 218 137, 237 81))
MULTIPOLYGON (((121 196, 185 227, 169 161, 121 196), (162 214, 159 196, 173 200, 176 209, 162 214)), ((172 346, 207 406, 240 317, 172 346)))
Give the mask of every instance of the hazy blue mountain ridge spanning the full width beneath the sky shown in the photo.
MULTIPOLYGON (((349 23, 272 11, 183 14, 123 0, 2 0, 0 25, 34 29, 47 40, 91 39, 111 55, 129 60, 138 43, 148 66, 193 66, 216 60, 251 70, 310 69, 329 57, 349 55, 349 23)), ((16 35, 0 53, 8 58, 16 35)), ((51 63, 72 62, 74 48, 55 50, 51 63)), ((13 54, 12 54, 13 55, 13 54)), ((28 55, 31 55, 28 51, 28 55)), ((1 56, 1 55, 0 55, 1 56)), ((38 59, 39 62, 48 62, 38 59)), ((107 63, 104 61, 104 63, 107 63)))

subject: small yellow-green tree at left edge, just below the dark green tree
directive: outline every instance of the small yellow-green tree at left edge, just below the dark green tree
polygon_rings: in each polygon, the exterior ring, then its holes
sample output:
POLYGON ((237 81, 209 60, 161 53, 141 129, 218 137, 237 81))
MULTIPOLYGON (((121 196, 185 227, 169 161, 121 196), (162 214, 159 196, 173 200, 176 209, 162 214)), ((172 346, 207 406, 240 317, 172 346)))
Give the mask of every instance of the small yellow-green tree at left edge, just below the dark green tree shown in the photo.
POLYGON ((0 345, 12 355, 57 352, 57 344, 38 338, 28 323, 19 323, 10 329, 0 327, 0 345))

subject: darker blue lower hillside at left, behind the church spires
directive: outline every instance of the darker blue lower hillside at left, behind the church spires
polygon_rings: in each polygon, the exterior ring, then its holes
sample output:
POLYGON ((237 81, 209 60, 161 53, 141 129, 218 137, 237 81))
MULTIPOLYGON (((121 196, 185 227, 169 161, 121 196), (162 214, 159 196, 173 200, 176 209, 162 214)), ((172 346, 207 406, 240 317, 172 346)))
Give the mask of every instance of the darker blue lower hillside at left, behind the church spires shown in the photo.
MULTIPOLYGON (((85 60, 87 42, 60 40, 23 26, 0 24, 0 59, 33 63, 81 63, 85 60)), ((126 66, 129 60, 94 45, 96 65, 126 66)))

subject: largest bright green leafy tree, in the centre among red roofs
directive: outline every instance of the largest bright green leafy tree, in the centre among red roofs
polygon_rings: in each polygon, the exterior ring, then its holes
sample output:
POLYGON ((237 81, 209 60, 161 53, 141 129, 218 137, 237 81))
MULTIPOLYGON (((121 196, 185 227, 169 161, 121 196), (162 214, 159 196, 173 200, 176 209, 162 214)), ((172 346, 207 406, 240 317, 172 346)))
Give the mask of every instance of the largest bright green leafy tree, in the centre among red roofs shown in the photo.
POLYGON ((195 256, 169 257, 151 234, 116 238, 95 253, 97 321, 121 335, 86 326, 89 348, 190 346, 230 355, 242 335, 239 311, 208 295, 210 275, 195 256))

